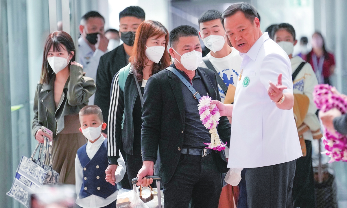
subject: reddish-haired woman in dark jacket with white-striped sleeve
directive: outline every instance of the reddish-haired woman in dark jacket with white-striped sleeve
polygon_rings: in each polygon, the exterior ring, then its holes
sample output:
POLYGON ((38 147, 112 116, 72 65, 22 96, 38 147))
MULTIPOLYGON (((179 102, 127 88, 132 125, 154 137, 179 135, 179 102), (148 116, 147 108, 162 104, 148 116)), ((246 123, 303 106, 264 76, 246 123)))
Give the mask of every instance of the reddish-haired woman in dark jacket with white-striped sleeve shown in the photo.
MULTIPOLYGON (((152 20, 144 21, 137 28, 133 55, 129 58, 128 66, 120 69, 113 78, 107 137, 110 163, 106 174, 110 174, 110 177, 114 176, 117 168, 119 146, 122 146, 126 152, 125 163, 130 182, 142 167, 143 89, 150 76, 170 65, 169 53, 166 50, 168 43, 169 32, 161 23, 152 20), (122 76, 124 73, 127 76, 122 76), (123 77, 126 77, 125 83, 124 86, 120 86, 122 81, 119 79, 123 77)), ((110 177, 107 177, 107 181, 114 183, 114 178, 110 177)))

